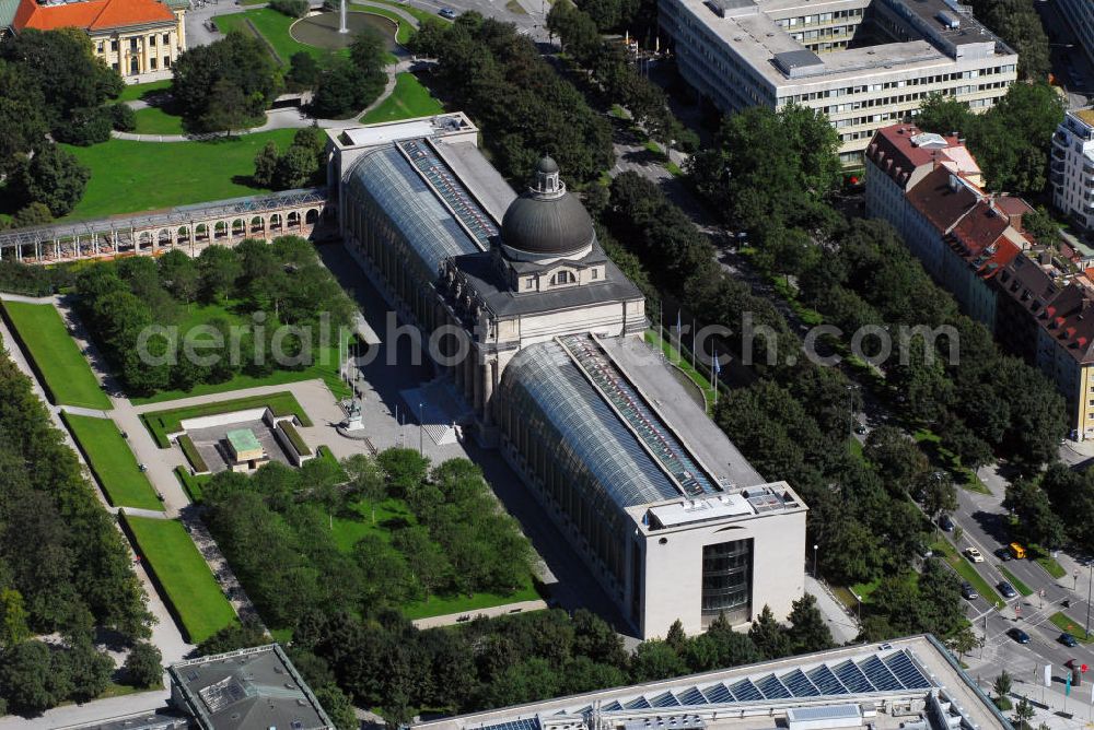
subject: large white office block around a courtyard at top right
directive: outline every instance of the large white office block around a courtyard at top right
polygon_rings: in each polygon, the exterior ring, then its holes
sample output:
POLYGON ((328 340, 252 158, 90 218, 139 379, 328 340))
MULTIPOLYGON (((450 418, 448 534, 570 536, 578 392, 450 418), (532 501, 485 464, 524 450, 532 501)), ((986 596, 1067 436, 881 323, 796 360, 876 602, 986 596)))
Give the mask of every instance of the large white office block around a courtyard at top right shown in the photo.
POLYGON ((975 110, 1016 79, 1017 55, 944 0, 660 0, 683 76, 723 111, 798 103, 857 165, 874 131, 932 92, 975 110))

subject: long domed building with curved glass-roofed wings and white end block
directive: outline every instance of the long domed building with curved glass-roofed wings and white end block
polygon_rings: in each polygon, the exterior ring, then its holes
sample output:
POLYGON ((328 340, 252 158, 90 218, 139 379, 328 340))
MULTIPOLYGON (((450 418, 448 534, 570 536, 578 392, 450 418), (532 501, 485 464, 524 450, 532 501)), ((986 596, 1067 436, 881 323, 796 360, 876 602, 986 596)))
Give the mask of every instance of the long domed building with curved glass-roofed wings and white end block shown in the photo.
POLYGON ((743 627, 765 604, 788 614, 804 589, 805 505, 765 483, 645 344, 642 294, 565 170, 542 158, 517 195, 462 114, 328 136, 347 249, 439 342, 438 382, 467 404, 467 428, 501 450, 638 635, 720 614, 743 627))

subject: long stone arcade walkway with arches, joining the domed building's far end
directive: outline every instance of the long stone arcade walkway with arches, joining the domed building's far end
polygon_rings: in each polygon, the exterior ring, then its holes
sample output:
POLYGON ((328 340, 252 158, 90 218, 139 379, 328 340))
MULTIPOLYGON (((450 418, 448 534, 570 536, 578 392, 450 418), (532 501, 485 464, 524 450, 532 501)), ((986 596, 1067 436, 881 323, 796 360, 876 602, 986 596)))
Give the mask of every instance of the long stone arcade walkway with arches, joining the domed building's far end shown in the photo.
POLYGON ((179 205, 0 233, 0 259, 61 263, 81 259, 156 254, 182 248, 191 256, 210 245, 244 238, 307 237, 329 217, 326 188, 179 205))

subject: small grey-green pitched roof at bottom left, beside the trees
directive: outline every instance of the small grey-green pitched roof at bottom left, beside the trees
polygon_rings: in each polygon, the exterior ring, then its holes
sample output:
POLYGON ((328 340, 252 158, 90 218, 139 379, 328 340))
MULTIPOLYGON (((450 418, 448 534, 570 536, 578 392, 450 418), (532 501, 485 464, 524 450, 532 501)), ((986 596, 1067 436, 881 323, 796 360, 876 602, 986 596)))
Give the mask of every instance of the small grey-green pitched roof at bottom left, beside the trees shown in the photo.
POLYGON ((167 672, 172 697, 201 730, 334 730, 277 644, 181 661, 167 672))

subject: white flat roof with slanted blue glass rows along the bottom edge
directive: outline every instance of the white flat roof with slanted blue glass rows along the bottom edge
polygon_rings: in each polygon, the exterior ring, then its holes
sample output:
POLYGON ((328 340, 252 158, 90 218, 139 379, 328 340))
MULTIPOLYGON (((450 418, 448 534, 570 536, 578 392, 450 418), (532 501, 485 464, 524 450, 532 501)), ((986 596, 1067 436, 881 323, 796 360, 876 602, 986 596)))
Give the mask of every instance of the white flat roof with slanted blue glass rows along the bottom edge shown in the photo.
MULTIPOLYGON (((927 719, 932 699, 935 711, 964 727, 1013 730, 945 648, 924 635, 418 722, 414 727, 769 730, 785 727, 789 710, 806 709, 838 716, 842 720, 838 727, 842 728, 865 727, 869 722, 878 730, 897 730, 904 723, 927 719)), ((928 727, 939 725, 929 721, 928 727)))

